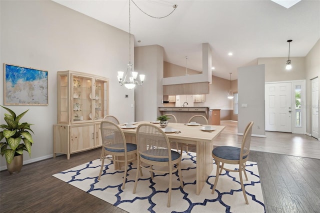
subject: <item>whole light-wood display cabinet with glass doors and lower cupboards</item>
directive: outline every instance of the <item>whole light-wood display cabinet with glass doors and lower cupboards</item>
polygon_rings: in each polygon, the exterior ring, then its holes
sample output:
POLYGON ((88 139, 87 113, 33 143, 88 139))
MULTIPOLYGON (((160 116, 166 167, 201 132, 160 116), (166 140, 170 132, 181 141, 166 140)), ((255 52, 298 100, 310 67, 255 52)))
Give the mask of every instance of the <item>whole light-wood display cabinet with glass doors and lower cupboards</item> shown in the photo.
POLYGON ((108 79, 75 71, 57 72, 57 121, 53 156, 102 145, 99 125, 108 114, 108 79))

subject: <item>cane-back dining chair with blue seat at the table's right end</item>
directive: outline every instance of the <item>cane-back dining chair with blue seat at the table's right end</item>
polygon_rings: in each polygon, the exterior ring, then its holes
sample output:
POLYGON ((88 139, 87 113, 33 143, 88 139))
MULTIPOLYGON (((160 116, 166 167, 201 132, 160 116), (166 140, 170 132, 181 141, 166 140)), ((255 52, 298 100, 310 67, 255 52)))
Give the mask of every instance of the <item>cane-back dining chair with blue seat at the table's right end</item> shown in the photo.
POLYGON ((218 182, 218 178, 222 172, 222 169, 226 171, 239 172, 240 184, 241 184, 242 193, 245 199, 245 203, 249 204, 248 199, 246 198, 245 190, 244 190, 242 171, 244 173, 245 179, 248 180, 248 177, 245 173, 245 162, 248 159, 249 152, 250 152, 252 125, 253 125, 253 121, 250 121, 245 127, 244 134, 241 141, 241 148, 234 147, 234 146, 218 146, 213 148, 212 157, 216 164, 216 174, 215 174, 215 180, 214 180, 214 184, 211 192, 212 194, 214 193, 214 190, 216 188, 216 184, 218 182), (222 163, 221 165, 220 165, 220 162, 222 163), (234 170, 228 169, 224 167, 224 163, 239 164, 239 168, 236 168, 234 170))

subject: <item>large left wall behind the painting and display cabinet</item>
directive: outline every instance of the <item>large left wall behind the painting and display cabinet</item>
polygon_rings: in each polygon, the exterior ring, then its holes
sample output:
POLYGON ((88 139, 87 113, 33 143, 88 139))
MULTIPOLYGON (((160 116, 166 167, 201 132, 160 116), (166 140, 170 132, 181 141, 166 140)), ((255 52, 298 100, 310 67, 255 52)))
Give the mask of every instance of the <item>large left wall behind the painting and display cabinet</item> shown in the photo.
MULTIPOLYGON (((133 55, 133 42, 131 55, 133 55)), ((0 1, 0 62, 48 70, 47 106, 7 106, 33 123, 34 144, 24 163, 52 156, 57 122, 56 71, 74 70, 109 78, 109 113, 120 122, 134 119, 134 91, 119 86, 116 71, 126 70, 128 33, 53 1, 0 1), (124 98, 129 94, 129 98, 124 98)), ((3 66, 0 76, 3 76, 3 66)), ((3 80, 0 78, 0 94, 3 80)), ((3 98, 0 100, 3 104, 3 98)), ((0 123, 4 110, 0 110, 0 123)), ((71 156, 72 157, 72 156, 71 156)), ((1 157, 1 168, 5 165, 1 157)))

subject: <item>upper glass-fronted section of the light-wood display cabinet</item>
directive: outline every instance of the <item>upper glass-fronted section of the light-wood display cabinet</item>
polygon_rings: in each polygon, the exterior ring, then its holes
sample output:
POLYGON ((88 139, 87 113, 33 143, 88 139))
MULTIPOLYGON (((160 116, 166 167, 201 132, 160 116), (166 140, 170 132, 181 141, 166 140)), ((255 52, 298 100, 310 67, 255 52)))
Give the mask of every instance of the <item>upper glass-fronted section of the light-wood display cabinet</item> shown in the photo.
POLYGON ((57 118, 59 124, 101 121, 108 114, 108 80, 75 72, 57 72, 57 118))

